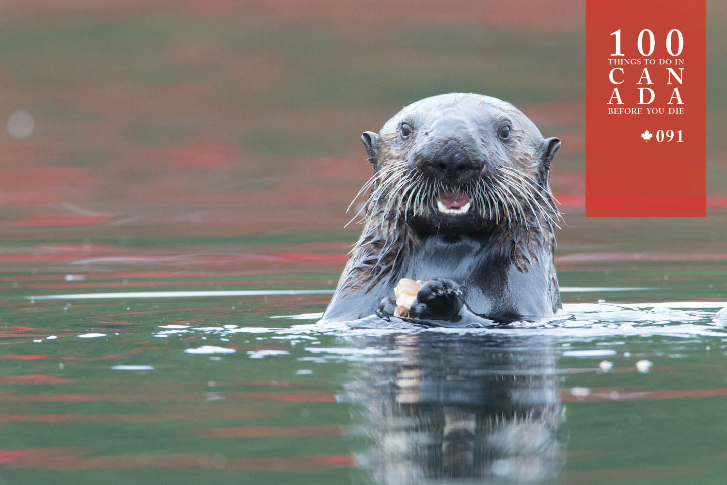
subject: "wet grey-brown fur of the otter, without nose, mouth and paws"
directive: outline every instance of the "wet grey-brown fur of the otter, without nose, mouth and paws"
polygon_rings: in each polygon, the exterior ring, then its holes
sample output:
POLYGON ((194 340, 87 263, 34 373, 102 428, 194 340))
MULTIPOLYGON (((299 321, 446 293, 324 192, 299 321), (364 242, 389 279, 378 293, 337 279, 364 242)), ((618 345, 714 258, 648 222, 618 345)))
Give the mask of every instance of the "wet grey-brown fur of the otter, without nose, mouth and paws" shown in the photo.
MULTIPOLYGON (((369 153, 375 173, 362 188, 371 188, 362 209, 364 228, 324 319, 368 316, 382 297, 393 296, 391 289, 405 277, 453 278, 465 289, 466 300, 475 312, 484 312, 483 316, 497 321, 553 313, 561 305, 553 266, 555 227, 561 214, 550 193, 550 159, 554 151, 545 150, 546 142, 523 113, 496 98, 442 95, 404 108, 385 124, 375 143, 376 153, 369 153), (437 98, 441 103, 434 102, 437 98), (462 101, 467 109, 464 121, 459 121, 462 101), (476 108, 474 102, 478 102, 476 108), (475 120, 475 132, 466 123, 467 116, 474 116, 477 108, 485 121, 475 120), (446 115, 440 114, 443 110, 446 115), (437 116, 455 119, 456 135, 437 138, 437 116), (490 122, 491 118, 494 121, 490 122), (512 120, 510 138, 507 144, 493 142, 492 127, 505 118, 512 120), (463 149, 477 152, 485 160, 479 177, 464 184, 427 180, 417 169, 422 161, 417 158, 420 153, 414 137, 410 143, 398 139, 397 127, 402 119, 425 127, 434 119, 431 135, 429 131, 417 134, 427 137, 423 145, 419 141, 420 148, 443 146, 456 137, 463 149), (450 227, 449 221, 438 214, 435 199, 441 188, 465 188, 473 198, 475 207, 460 216, 467 218, 465 224, 457 222, 450 227), (462 260, 467 267, 457 268, 462 260), (511 274, 513 269, 523 277, 511 274), (437 271, 441 274, 434 274, 437 271), (530 273, 532 277, 528 278, 530 273), (530 288, 530 280, 535 288, 530 288), (521 284, 526 291, 547 287, 547 297, 539 298, 549 300, 547 308, 539 308, 543 304, 507 301, 508 294, 513 294, 513 283, 521 284), (483 297, 488 304, 473 304, 472 300, 483 297)), ((528 296, 519 294, 518 298, 528 296)))

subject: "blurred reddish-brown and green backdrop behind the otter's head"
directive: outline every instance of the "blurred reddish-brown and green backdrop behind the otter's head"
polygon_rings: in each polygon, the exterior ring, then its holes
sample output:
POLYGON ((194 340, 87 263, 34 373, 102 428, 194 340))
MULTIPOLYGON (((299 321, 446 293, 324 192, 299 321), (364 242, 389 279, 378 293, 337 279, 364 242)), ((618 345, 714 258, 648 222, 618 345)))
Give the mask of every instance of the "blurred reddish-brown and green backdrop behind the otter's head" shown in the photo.
POLYGON ((559 257, 723 252, 727 6, 707 5, 708 217, 627 220, 583 217, 582 1, 3 1, 0 251, 316 243, 340 268, 361 132, 462 91, 563 140, 559 257))

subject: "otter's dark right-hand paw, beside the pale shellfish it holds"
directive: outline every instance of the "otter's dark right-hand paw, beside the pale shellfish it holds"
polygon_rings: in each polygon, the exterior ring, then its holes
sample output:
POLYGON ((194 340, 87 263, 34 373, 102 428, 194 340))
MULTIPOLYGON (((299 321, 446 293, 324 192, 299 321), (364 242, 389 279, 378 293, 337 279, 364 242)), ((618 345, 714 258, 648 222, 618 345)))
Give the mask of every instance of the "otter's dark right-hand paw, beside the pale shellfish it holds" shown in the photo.
POLYGON ((427 281, 411 304, 410 318, 454 320, 465 302, 459 284, 447 278, 427 281))

